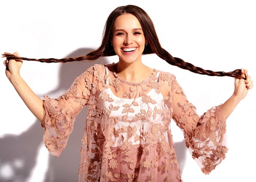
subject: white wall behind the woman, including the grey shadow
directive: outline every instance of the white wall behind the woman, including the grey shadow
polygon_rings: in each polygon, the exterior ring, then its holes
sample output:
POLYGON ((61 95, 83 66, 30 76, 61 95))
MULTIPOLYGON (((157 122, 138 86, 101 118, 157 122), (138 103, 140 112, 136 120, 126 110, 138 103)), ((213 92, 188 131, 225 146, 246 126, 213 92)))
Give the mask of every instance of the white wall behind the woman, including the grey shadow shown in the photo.
MULTIPOLYGON (((0 2, 0 52, 18 51, 22 57, 63 58, 97 48, 105 21, 118 6, 134 4, 152 18, 162 47, 174 57, 214 71, 246 68, 256 78, 256 11, 253 0, 73 0, 0 2)), ((117 57, 70 64, 24 61, 21 76, 36 94, 57 97, 89 66, 112 63, 117 57)), ((0 59, 1 62, 4 58, 0 59)), ((144 64, 177 77, 177 81, 202 115, 224 103, 234 90, 234 79, 197 75, 166 64, 155 55, 144 64)), ((2 63, 1 63, 2 64, 2 63)), ((83 110, 59 158, 42 143, 43 129, 30 113, 0 66, 0 181, 76 182, 86 109, 83 110)), ((226 159, 204 175, 185 147, 183 134, 171 124, 177 156, 185 182, 255 180, 255 88, 227 120, 226 159)))

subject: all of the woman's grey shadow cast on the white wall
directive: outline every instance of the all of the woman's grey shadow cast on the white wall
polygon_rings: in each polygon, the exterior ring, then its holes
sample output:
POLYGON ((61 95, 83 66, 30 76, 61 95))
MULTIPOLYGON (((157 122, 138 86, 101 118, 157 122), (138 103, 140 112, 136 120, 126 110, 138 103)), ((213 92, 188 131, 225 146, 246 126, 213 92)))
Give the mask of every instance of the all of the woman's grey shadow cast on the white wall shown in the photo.
MULTIPOLYGON (((78 57, 92 51, 90 48, 80 48, 67 57, 78 57)), ((56 94, 64 93, 70 88, 74 79, 81 75, 86 69, 94 64, 108 64, 106 58, 101 57, 97 61, 75 61, 61 65, 59 75, 59 85, 55 90, 47 93, 56 94)), ((87 115, 87 107, 83 109, 76 118, 74 130, 70 135, 67 147, 62 152, 61 156, 49 157, 49 166, 45 176, 45 182, 74 182, 78 181, 77 170, 80 164, 80 149, 81 138, 83 137, 85 120, 87 115)), ((7 135, 0 138, 0 165, 7 166, 12 171, 11 176, 0 174, 1 182, 25 182, 31 175, 32 169, 36 165, 36 158, 38 157, 38 150, 42 144, 43 129, 38 120, 24 133, 19 136, 7 135), (31 140, 33 138, 33 140, 31 140)), ((182 171, 185 162, 186 145, 184 140, 182 142, 174 143, 177 159, 182 171)))

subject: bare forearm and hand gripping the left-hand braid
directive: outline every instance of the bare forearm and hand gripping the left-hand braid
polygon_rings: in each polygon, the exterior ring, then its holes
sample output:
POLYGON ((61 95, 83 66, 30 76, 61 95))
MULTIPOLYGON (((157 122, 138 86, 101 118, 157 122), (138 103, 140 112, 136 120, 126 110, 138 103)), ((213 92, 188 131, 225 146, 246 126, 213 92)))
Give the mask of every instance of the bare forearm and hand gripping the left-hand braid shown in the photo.
MULTIPOLYGON (((13 55, 20 56, 17 52, 13 55)), ((27 83, 20 77, 20 67, 22 65, 21 60, 10 59, 4 61, 4 65, 8 67, 5 70, 5 74, 15 90, 18 92, 21 99, 27 105, 29 110, 38 118, 38 120, 45 125, 45 110, 43 107, 43 100, 40 99, 32 90, 29 88, 27 83)))

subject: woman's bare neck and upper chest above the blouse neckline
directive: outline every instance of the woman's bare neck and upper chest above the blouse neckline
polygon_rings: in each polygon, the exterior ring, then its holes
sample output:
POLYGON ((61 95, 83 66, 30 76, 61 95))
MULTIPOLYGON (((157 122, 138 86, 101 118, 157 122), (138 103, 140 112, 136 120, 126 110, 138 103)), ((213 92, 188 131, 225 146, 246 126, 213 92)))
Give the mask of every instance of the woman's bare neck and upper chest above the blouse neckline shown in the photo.
POLYGON ((115 70, 117 75, 129 82, 141 82, 148 79, 153 72, 152 68, 142 64, 141 61, 135 61, 133 63, 125 63, 124 61, 119 61, 115 64, 115 70))

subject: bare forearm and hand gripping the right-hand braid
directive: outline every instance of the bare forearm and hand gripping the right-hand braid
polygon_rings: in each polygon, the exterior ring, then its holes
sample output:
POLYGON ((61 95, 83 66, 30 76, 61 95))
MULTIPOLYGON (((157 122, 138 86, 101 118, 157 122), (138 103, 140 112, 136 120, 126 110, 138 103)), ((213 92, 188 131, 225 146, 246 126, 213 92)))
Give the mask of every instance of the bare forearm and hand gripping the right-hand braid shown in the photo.
POLYGON ((222 112, 224 114, 225 119, 229 117, 231 112, 235 109, 236 105, 245 98, 247 95, 248 89, 253 87, 251 77, 247 75, 247 70, 242 69, 242 77, 246 79, 235 79, 235 90, 234 94, 222 104, 222 112))

